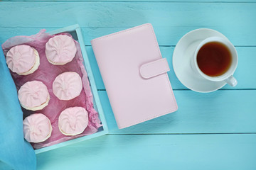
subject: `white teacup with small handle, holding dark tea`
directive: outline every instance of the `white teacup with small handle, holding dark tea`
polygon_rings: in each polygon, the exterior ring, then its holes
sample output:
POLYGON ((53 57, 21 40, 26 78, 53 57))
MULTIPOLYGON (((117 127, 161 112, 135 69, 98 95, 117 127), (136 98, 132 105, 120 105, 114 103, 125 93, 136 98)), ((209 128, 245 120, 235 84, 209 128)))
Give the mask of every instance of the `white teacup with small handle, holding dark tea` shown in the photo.
POLYGON ((196 47, 195 54, 191 58, 191 67, 192 69, 203 79, 208 79, 210 81, 225 81, 230 86, 236 86, 238 84, 238 81, 233 77, 233 74, 235 72, 235 69, 238 66, 238 52, 235 50, 234 45, 226 39, 219 38, 219 37, 210 37, 206 38, 205 40, 201 41, 198 47, 196 47), (208 76, 207 74, 203 73, 201 69, 198 67, 197 57, 198 52, 201 50, 203 45, 206 45, 209 42, 219 42, 222 45, 225 45, 225 47, 228 48, 230 51, 231 56, 231 63, 230 67, 221 75, 219 76, 208 76))

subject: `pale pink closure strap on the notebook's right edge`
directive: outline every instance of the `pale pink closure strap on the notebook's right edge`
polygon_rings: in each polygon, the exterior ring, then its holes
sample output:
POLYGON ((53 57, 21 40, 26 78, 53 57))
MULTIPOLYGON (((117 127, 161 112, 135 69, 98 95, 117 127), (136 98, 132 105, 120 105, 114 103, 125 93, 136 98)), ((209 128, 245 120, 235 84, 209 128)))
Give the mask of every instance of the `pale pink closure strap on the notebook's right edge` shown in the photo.
POLYGON ((166 58, 161 58, 154 62, 143 64, 139 71, 144 79, 150 79, 151 77, 169 72, 170 68, 166 58))

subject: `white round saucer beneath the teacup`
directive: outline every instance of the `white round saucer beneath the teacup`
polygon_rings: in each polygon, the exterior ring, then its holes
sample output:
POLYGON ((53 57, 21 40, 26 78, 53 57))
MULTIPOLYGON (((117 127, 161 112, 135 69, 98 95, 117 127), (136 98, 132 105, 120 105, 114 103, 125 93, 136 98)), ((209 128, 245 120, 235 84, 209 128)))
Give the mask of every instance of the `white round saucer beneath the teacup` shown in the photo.
POLYGON ((183 35, 174 49, 174 72, 176 77, 178 77, 178 80, 181 81, 181 83, 188 89, 208 93, 211 91, 216 91, 226 84, 225 81, 214 82, 198 77, 198 75, 191 68, 190 60, 194 55, 196 47, 202 40, 213 36, 228 40, 228 38, 216 30, 201 28, 192 30, 191 32, 186 33, 186 35, 183 35))

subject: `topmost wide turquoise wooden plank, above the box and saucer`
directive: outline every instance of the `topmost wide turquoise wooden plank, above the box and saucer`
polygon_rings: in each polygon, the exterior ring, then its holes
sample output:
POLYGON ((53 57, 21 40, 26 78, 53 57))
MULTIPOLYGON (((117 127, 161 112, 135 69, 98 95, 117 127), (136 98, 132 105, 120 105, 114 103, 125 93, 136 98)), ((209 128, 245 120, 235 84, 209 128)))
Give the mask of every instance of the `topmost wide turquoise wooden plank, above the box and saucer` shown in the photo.
POLYGON ((142 23, 152 23, 160 45, 176 45, 196 28, 218 30, 235 45, 256 45, 255 8, 256 3, 1 2, 0 21, 1 30, 7 31, 79 23, 86 28, 86 45, 92 38, 142 23))

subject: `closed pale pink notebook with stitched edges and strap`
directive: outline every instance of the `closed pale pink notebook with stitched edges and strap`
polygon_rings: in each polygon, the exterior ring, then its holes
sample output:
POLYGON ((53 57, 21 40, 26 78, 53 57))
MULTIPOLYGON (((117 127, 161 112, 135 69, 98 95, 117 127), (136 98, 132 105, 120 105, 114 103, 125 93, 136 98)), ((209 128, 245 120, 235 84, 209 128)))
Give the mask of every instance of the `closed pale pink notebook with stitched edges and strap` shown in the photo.
POLYGON ((91 40, 118 127, 178 109, 150 23, 91 40))

